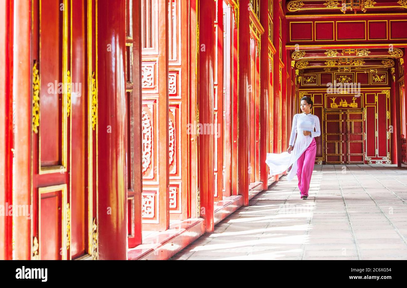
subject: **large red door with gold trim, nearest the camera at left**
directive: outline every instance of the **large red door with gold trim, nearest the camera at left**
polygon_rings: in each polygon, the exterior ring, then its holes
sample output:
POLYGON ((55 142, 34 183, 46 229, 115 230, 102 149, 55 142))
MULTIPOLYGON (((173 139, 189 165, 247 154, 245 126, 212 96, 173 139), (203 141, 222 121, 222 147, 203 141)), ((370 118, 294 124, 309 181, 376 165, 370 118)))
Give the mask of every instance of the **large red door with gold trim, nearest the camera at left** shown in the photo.
POLYGON ((94 9, 33 1, 33 259, 97 258, 94 9))

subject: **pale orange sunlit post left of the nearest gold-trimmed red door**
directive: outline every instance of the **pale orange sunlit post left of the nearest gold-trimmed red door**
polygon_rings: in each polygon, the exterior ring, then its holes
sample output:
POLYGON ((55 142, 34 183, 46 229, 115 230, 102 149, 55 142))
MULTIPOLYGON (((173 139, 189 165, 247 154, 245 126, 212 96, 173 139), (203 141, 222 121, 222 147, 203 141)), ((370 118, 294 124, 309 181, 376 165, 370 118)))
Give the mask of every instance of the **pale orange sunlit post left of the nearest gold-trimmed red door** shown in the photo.
MULTIPOLYGON (((7 1, 8 2, 8 1, 7 1)), ((31 6, 29 1, 14 2, 15 17, 18 19, 14 26, 14 58, 13 75, 15 78, 13 92, 15 95, 15 205, 31 204, 31 75, 30 61, 30 29, 31 6)), ((30 208, 30 213, 33 211, 30 208)), ((31 259, 31 220, 27 217, 16 217, 15 229, 15 259, 31 259)))

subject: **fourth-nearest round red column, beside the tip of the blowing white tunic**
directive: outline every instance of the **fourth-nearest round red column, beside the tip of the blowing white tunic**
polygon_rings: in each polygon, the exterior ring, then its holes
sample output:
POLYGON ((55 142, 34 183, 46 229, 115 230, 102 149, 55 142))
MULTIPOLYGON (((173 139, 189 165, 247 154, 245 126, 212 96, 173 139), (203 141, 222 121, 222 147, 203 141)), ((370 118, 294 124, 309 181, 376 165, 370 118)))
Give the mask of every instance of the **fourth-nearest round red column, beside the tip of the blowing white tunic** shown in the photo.
POLYGON ((267 134, 269 117, 269 10, 266 7, 260 9, 260 24, 265 29, 260 41, 260 181, 263 182, 263 189, 267 189, 268 166, 266 164, 267 154, 267 134))

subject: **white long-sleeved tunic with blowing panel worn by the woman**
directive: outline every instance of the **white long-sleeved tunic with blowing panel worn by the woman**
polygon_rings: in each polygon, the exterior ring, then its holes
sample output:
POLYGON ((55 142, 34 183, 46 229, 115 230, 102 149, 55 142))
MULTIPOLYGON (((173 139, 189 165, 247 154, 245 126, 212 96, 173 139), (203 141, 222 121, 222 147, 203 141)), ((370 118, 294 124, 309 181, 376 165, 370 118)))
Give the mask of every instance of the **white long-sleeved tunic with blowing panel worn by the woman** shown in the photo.
POLYGON ((270 167, 270 175, 280 174, 293 165, 287 174, 287 180, 291 181, 294 175, 297 173, 298 158, 300 158, 302 153, 304 153, 304 151, 311 144, 312 139, 319 135, 321 135, 321 130, 319 128, 318 116, 311 113, 295 114, 289 142, 289 145, 294 146, 294 148, 291 151, 291 154, 288 152, 283 152, 280 154, 267 153, 266 163, 270 167), (309 135, 304 136, 304 134, 302 134, 302 131, 304 130, 311 131, 311 137, 309 135), (295 134, 297 134, 297 139, 295 139, 295 134))

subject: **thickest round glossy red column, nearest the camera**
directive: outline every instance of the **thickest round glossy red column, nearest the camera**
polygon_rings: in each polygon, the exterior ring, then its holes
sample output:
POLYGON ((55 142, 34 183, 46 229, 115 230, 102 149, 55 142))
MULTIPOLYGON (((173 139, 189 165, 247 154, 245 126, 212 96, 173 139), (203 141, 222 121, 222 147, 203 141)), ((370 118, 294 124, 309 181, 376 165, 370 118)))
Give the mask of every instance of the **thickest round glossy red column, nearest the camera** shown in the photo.
POLYGON ((98 253, 127 259, 125 0, 99 0, 97 7, 98 253))

